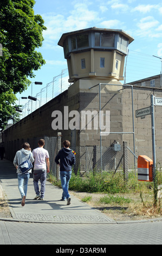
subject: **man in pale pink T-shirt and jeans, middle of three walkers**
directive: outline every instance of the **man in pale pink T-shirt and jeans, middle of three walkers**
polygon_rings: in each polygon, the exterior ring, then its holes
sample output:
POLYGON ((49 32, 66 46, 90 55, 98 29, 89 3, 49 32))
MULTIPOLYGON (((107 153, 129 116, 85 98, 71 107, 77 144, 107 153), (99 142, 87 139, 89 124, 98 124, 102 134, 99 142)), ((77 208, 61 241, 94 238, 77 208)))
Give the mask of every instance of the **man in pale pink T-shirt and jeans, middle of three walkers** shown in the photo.
POLYGON ((34 157, 34 173, 33 182, 36 196, 34 199, 44 200, 44 192, 46 187, 46 172, 49 173, 49 154, 44 149, 44 139, 38 141, 38 148, 32 151, 34 157), (38 181, 41 182, 41 190, 39 190, 38 181))

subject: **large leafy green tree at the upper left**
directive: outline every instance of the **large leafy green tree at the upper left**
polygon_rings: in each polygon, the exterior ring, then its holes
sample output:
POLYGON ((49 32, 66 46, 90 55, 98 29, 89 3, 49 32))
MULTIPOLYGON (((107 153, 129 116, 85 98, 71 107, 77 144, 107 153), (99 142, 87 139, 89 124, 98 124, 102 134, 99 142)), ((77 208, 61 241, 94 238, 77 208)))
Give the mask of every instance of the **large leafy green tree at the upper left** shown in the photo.
POLYGON ((28 77, 35 77, 34 70, 46 63, 35 50, 42 46, 42 32, 47 28, 41 15, 34 15, 34 4, 34 0, 0 0, 0 116, 9 94, 14 100, 12 94, 27 89, 28 77))

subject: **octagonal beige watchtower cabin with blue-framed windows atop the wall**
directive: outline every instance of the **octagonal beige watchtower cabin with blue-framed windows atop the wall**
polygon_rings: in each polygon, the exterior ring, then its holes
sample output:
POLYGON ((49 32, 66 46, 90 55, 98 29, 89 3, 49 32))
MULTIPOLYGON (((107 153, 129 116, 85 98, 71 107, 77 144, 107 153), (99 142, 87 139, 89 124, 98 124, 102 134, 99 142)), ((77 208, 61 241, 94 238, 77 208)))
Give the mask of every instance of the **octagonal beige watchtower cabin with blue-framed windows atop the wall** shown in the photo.
POLYGON ((133 40, 120 29, 93 27, 64 33, 58 45, 63 47, 67 59, 69 82, 97 79, 100 83, 112 80, 118 83, 124 80, 125 56, 133 40))

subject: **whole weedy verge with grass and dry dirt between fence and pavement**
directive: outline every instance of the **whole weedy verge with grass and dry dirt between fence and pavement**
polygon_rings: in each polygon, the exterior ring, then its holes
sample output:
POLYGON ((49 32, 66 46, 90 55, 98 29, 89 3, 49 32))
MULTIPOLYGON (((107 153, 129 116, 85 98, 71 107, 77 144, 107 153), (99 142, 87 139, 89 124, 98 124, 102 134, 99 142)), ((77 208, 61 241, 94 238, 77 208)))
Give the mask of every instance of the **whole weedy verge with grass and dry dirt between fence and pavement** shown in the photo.
MULTIPOLYGON (((162 184, 161 171, 157 172, 158 185, 162 184)), ((61 181, 56 181, 53 175, 49 181, 61 187, 61 181)), ((89 172, 85 175, 72 173, 69 182, 70 193, 103 211, 109 217, 118 221, 142 220, 162 216, 161 199, 154 207, 153 182, 138 181, 134 171, 129 172, 128 181, 124 182, 122 171, 89 172)))

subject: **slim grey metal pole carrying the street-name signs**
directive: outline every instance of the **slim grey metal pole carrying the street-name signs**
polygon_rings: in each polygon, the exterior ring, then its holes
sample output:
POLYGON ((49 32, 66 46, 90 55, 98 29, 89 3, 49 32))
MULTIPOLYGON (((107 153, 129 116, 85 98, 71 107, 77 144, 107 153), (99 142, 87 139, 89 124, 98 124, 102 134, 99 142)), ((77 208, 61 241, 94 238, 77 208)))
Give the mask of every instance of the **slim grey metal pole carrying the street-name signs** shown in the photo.
POLYGON ((154 129, 154 95, 151 95, 151 127, 152 127, 152 156, 153 156, 153 181, 155 180, 155 129, 154 129))

